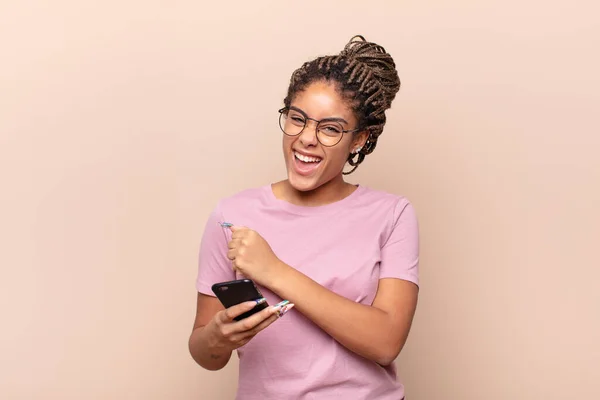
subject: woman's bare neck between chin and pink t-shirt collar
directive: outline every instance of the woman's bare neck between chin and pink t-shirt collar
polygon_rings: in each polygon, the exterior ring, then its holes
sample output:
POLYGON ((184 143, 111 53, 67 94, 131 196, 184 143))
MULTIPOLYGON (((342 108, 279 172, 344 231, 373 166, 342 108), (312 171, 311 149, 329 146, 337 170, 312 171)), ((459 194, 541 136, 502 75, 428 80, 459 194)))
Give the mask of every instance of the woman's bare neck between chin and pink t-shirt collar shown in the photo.
POLYGON ((335 203, 352 194, 354 190, 356 190, 356 186, 345 182, 341 174, 318 188, 306 192, 294 189, 288 180, 273 185, 275 197, 306 207, 318 207, 335 203))

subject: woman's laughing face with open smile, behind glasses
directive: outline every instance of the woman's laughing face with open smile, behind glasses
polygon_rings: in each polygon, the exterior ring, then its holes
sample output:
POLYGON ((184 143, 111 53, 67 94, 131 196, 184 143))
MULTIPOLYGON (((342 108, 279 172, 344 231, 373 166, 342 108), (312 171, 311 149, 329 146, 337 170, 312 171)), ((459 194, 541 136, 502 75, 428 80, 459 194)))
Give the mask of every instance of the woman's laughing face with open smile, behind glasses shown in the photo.
POLYGON ((336 178, 341 181, 348 155, 364 143, 366 133, 342 133, 339 143, 327 147, 317 139, 317 123, 314 120, 334 119, 344 130, 356 129, 358 121, 352 109, 333 84, 323 81, 314 82, 297 93, 290 109, 296 119, 302 118, 302 114, 311 118, 304 118, 306 127, 299 135, 283 135, 283 154, 290 185, 306 192, 336 178))

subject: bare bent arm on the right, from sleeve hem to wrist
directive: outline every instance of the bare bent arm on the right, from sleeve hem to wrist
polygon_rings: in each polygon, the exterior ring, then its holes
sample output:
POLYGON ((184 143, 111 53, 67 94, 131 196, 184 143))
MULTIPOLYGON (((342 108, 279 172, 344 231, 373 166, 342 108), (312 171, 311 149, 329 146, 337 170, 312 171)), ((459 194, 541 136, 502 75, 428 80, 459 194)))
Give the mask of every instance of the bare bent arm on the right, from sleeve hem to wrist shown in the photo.
POLYGON ((418 287, 412 282, 386 278, 372 306, 355 303, 285 266, 271 288, 296 309, 354 353, 381 365, 391 364, 410 330, 418 287))

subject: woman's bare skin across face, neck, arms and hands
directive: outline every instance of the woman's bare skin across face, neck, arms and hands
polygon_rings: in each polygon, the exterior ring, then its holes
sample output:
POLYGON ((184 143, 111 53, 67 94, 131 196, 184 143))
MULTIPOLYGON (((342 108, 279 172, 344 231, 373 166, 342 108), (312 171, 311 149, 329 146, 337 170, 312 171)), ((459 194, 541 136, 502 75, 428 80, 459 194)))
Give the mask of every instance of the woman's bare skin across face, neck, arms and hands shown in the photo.
MULTIPOLYGON (((316 120, 343 118, 344 129, 356 128, 356 116, 331 83, 312 83, 296 95, 291 106, 316 120)), ((342 170, 350 152, 364 145, 367 133, 345 133, 337 145, 325 147, 316 138, 315 124, 310 121, 298 136, 283 135, 288 179, 272 185, 279 199, 297 205, 320 206, 339 201, 356 190, 356 186, 344 181, 342 170), (294 151, 321 158, 317 170, 309 176, 297 173, 293 166, 294 151)), ((294 303, 298 311, 350 351, 384 366, 396 359, 406 342, 416 310, 418 287, 415 284, 381 279, 371 306, 355 303, 287 265, 256 231, 238 226, 230 229, 232 239, 227 256, 235 270, 294 303)), ((277 319, 277 310, 269 307, 244 321, 233 321, 235 315, 254 306, 244 304, 224 310, 216 298, 198 294, 189 341, 190 352, 198 364, 210 370, 223 368, 233 350, 277 319)))

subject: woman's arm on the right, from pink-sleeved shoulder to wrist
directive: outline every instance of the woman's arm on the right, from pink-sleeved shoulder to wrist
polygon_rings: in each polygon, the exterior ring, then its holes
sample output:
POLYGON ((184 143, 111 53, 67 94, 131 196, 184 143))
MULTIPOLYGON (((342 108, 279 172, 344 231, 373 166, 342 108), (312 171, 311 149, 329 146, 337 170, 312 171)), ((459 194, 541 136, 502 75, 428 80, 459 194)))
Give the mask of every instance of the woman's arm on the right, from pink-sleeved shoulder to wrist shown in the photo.
POLYGON ((418 236, 414 209, 405 200, 398 202, 381 248, 379 287, 372 305, 340 296, 282 261, 277 261, 277 273, 270 274, 267 286, 349 350, 388 365, 402 350, 417 307, 418 236))

